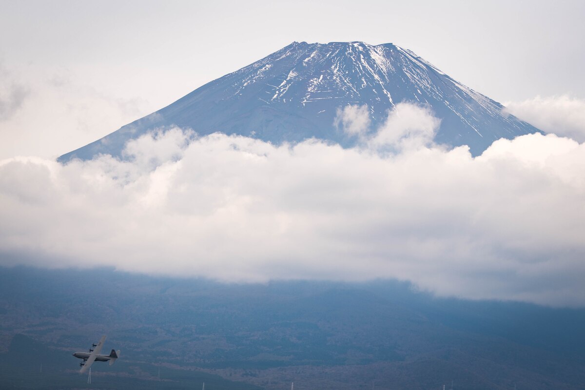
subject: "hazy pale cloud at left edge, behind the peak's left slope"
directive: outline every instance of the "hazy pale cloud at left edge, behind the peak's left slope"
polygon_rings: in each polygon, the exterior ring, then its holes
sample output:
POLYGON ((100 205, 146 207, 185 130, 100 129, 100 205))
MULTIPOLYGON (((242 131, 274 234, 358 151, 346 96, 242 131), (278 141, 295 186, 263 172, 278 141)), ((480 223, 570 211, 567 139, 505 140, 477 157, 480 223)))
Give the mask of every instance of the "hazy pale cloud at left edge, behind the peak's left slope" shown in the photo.
POLYGON ((0 158, 57 157, 152 111, 95 73, 35 64, 0 70, 0 158))

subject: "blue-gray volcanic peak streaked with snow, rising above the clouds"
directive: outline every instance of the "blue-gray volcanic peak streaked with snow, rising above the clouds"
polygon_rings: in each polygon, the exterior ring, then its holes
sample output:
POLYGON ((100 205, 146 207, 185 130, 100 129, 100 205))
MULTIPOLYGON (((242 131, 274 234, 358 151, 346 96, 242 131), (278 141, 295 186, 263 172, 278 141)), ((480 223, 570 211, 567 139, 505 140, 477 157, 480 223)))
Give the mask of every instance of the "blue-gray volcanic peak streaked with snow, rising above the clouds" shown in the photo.
POLYGON ((474 155, 501 137, 540 131, 394 44, 293 42, 59 161, 120 156, 126 141, 171 125, 201 135, 242 134, 276 144, 316 137, 350 147, 356 140, 333 125, 338 108, 367 104, 375 129, 404 101, 428 105, 442 119, 438 143, 467 144, 474 155))

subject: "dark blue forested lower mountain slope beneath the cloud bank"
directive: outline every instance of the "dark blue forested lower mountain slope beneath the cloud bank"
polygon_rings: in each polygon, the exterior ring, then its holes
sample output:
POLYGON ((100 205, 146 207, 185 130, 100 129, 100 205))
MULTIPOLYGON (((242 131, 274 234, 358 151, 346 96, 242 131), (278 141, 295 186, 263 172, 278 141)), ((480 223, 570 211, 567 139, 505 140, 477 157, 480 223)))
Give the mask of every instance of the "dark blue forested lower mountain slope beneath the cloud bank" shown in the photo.
POLYGON ((97 388, 577 390, 584 327, 584 309, 434 298, 391 280, 0 267, 0 388, 85 388, 71 353, 107 334, 122 354, 92 366, 97 388))

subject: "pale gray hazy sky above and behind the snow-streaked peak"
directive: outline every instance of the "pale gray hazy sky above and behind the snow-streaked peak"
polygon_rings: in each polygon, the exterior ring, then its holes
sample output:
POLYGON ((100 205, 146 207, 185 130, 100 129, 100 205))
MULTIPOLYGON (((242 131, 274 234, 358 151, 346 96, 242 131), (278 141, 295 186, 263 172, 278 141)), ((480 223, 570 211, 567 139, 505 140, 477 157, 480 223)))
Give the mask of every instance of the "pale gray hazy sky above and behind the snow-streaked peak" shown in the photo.
POLYGON ((491 98, 585 98, 582 1, 1 1, 0 158, 56 157, 297 40, 393 42, 491 98))

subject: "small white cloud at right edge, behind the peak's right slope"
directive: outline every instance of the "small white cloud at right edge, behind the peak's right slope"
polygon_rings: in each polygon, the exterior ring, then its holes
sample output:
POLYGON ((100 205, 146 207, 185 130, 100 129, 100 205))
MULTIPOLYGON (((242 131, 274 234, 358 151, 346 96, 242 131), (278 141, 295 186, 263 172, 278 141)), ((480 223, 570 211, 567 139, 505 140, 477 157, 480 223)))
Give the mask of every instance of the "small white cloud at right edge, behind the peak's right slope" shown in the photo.
POLYGON ((522 102, 508 102, 504 112, 547 133, 585 141, 585 100, 569 95, 536 96, 522 102))

